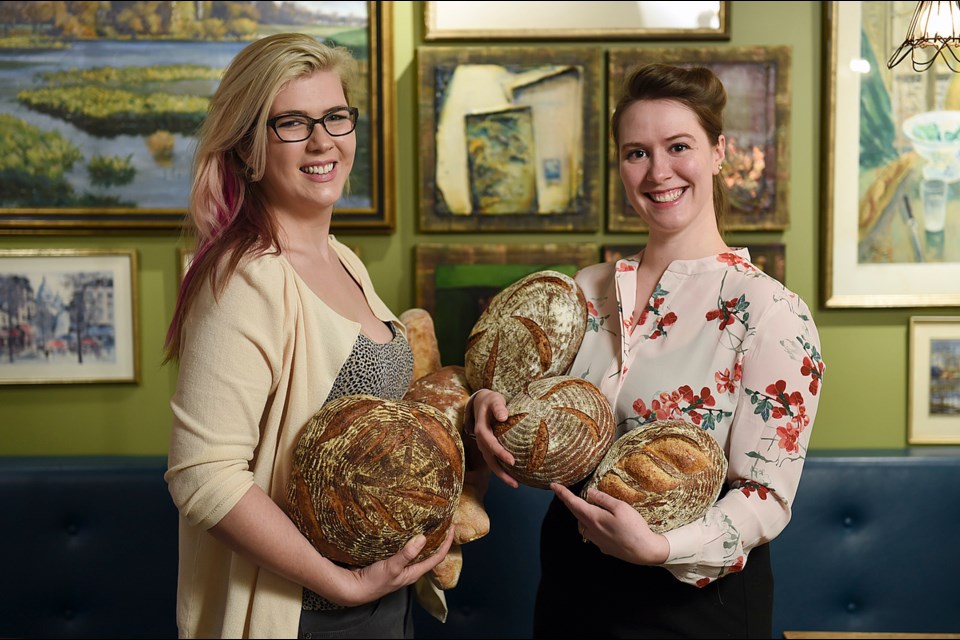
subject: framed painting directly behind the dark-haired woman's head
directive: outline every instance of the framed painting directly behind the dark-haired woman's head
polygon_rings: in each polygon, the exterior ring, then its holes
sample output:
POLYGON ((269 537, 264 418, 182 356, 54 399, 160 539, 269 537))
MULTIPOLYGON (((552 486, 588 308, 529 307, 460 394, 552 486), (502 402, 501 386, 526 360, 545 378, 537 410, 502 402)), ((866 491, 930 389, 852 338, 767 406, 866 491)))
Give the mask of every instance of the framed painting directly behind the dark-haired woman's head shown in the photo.
MULTIPOLYGON (((790 48, 730 47, 611 49, 608 90, 611 114, 628 73, 649 62, 709 67, 727 91, 723 178, 730 194, 729 231, 785 229, 790 221, 790 48)), ((627 200, 613 137, 609 136, 607 201, 609 231, 642 231, 627 200)))

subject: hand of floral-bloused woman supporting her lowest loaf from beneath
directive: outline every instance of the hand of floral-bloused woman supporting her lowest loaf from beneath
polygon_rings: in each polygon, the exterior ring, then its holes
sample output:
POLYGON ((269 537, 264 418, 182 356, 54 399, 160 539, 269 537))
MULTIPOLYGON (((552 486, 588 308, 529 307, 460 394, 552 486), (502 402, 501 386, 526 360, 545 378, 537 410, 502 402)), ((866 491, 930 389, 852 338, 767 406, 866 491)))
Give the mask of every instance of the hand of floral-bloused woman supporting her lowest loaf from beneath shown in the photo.
POLYGON ((576 516, 580 535, 608 556, 634 564, 660 565, 670 555, 670 543, 654 533, 636 509, 623 500, 590 489, 583 500, 557 483, 550 488, 576 516))

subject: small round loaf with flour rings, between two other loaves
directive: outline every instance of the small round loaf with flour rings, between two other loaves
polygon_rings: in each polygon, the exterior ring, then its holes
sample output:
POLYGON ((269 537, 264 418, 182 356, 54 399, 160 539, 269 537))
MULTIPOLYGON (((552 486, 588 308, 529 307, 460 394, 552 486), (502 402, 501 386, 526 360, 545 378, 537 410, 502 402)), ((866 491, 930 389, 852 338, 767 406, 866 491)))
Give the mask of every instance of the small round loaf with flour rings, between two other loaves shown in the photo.
POLYGON ((613 443, 613 411, 600 390, 573 376, 534 380, 507 403, 508 416, 493 425, 513 454, 510 475, 526 485, 569 486, 596 468, 613 443))

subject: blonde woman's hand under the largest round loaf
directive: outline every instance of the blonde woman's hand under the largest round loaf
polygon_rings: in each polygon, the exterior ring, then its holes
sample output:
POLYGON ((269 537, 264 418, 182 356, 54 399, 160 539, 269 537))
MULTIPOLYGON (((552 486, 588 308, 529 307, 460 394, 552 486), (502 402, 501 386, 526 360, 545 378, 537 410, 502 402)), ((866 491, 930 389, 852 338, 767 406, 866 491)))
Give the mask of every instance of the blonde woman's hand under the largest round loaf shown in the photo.
POLYGON ((345 606, 357 606, 413 584, 446 557, 453 543, 453 534, 454 527, 451 525, 440 548, 420 562, 414 562, 414 560, 423 550, 427 539, 423 535, 414 536, 400 551, 389 558, 350 571, 354 578, 354 585, 345 589, 342 597, 335 599, 328 597, 328 599, 345 606))

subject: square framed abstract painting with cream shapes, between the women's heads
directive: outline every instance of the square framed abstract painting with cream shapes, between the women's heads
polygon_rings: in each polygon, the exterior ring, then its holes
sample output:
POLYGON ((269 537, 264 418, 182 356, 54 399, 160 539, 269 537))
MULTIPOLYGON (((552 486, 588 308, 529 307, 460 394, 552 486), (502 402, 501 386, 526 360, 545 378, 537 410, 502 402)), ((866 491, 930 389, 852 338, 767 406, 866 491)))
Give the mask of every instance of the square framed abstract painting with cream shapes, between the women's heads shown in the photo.
POLYGON ((420 47, 421 231, 596 231, 601 52, 420 47))

